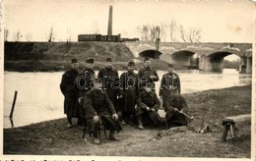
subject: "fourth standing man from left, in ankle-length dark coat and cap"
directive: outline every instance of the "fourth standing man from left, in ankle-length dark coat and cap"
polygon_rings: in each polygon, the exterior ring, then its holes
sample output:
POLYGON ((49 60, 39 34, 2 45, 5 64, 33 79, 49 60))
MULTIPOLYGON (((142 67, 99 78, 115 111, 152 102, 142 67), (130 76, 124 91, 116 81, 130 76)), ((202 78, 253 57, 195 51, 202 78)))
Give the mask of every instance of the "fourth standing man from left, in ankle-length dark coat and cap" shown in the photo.
MULTIPOLYGON (((135 114, 135 104, 138 95, 138 76, 134 73, 135 63, 128 63, 128 71, 120 77, 120 97, 122 103, 119 110, 122 112, 122 125, 125 125, 128 119, 135 114)), ((132 121, 132 120, 129 120, 132 121)))

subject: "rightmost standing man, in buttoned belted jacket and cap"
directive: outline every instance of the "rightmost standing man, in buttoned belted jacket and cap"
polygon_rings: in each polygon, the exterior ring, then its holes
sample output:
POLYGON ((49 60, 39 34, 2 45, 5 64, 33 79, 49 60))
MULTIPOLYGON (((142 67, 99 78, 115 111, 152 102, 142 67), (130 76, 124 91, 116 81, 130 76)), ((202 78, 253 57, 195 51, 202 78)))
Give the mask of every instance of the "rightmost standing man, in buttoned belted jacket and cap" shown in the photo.
POLYGON ((168 73, 163 75, 160 80, 160 98, 162 98, 162 106, 165 107, 165 103, 169 95, 180 94, 180 80, 179 76, 173 72, 173 65, 167 65, 168 73))

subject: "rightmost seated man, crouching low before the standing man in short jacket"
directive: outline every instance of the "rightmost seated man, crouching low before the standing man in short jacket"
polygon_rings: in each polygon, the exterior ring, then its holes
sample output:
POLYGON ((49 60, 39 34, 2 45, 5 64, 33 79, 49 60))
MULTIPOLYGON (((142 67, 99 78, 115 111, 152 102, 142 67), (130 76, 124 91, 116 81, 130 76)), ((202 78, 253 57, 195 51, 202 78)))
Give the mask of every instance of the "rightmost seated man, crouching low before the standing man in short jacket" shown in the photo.
POLYGON ((186 100, 182 95, 178 93, 169 95, 164 107, 168 128, 175 126, 187 126, 189 120, 183 114, 187 113, 187 109, 188 106, 186 100))

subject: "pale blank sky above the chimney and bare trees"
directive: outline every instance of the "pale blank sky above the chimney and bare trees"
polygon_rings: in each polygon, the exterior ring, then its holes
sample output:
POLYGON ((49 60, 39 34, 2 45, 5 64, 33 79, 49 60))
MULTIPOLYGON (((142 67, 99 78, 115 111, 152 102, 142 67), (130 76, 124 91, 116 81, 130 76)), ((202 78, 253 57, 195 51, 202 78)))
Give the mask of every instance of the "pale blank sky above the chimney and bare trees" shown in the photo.
MULTIPOLYGON (((53 27, 55 41, 71 35, 106 34, 109 6, 113 34, 140 37, 137 27, 170 24, 201 29, 203 42, 253 42, 255 4, 250 0, 3 0, 3 26, 8 40, 46 41, 53 27)), ((176 39, 180 39, 176 31, 176 39)), ((169 40, 167 33, 166 41, 169 40)), ((181 41, 181 39, 180 39, 181 41)))

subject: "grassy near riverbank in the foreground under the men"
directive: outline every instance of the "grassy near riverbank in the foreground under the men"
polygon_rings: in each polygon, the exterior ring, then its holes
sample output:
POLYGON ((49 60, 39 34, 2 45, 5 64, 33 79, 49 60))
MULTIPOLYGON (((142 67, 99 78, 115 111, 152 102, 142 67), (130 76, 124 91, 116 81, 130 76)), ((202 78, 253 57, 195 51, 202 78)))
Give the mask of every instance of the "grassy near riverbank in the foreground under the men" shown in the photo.
MULTIPOLYGON (((89 134, 82 138, 83 127, 66 128, 66 119, 4 129, 4 154, 38 155, 94 155, 94 156, 159 156, 159 157, 226 157, 249 158, 251 126, 237 124, 240 137, 222 142, 222 119, 225 116, 251 113, 251 85, 235 86, 184 94, 194 116, 187 130, 166 132, 146 127, 140 131, 135 125, 123 126, 117 134, 121 141, 109 141, 102 136, 102 144, 95 145, 89 134), (210 121, 211 120, 211 121, 210 121), (208 123, 212 132, 196 133, 208 123), (106 150, 107 149, 107 150, 106 150), (134 150, 136 149, 136 150, 134 150)), ((102 134, 103 135, 103 134, 102 134)))

